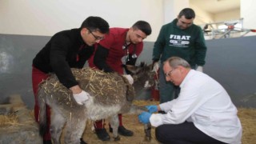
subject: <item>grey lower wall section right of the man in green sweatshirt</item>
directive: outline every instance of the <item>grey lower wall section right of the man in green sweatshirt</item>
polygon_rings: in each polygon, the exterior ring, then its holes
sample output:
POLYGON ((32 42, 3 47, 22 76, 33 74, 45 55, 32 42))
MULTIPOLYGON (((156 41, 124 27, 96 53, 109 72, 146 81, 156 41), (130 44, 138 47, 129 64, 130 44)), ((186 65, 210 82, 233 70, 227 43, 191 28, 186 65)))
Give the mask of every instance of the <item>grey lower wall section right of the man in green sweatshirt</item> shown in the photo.
POLYGON ((208 40, 205 72, 224 86, 237 106, 256 107, 255 36, 208 40))

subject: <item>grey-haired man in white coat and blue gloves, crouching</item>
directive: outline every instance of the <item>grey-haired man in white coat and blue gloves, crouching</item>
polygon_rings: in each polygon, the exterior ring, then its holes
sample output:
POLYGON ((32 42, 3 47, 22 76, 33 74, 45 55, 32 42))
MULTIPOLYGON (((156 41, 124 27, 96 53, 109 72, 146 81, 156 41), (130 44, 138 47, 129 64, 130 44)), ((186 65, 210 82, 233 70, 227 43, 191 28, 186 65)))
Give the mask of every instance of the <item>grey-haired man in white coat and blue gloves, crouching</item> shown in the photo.
POLYGON ((241 143, 242 126, 237 108, 226 90, 213 78, 192 70, 182 58, 164 62, 166 81, 180 86, 178 98, 158 106, 146 106, 138 119, 155 126, 162 143, 241 143), (162 110, 166 114, 153 114, 162 110))

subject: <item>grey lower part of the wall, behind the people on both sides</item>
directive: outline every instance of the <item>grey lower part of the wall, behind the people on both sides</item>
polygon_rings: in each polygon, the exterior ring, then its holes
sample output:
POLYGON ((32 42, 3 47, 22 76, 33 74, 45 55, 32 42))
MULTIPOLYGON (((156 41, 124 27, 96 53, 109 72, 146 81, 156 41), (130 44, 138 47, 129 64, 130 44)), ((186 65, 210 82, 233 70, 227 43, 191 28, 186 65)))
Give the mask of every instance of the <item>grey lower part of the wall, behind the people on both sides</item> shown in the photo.
MULTIPOLYGON (((34 106, 32 59, 49 39, 47 36, 0 34, 0 103, 11 94, 20 94, 29 108, 34 106)), ((255 41, 255 36, 206 41, 204 71, 226 88, 237 106, 256 107, 255 41)), ((154 42, 145 43, 138 62, 151 62, 153 46, 154 42)))

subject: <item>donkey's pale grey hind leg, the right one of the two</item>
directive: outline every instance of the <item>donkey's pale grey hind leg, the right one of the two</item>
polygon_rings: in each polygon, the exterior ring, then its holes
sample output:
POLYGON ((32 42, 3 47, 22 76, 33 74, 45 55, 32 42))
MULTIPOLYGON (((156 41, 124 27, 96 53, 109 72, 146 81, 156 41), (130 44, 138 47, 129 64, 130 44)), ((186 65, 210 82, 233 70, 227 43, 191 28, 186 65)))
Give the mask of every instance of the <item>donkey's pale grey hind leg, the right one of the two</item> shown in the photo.
POLYGON ((64 143, 80 143, 80 138, 86 129, 85 116, 73 116, 66 122, 66 134, 64 136, 64 143))

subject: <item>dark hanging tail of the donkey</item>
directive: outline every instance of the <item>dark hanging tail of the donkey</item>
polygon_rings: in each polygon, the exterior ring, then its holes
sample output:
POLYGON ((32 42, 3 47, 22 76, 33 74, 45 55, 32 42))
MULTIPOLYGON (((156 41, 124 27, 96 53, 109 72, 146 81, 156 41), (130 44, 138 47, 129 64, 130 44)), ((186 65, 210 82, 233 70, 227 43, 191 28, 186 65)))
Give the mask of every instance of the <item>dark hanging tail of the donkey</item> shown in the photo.
POLYGON ((38 103, 39 103, 39 134, 43 136, 47 130, 46 119, 46 93, 43 89, 38 90, 38 103))

